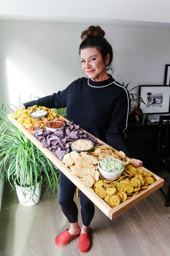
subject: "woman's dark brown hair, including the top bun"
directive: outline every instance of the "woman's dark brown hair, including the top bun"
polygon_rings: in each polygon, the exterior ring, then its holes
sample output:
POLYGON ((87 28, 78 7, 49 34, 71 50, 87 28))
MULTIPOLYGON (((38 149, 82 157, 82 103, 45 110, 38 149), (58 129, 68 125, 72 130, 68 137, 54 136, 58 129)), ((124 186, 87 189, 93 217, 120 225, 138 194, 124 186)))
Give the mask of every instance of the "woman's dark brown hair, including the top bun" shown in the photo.
POLYGON ((101 54, 103 61, 105 61, 106 55, 109 53, 110 60, 109 60, 109 64, 107 65, 108 67, 111 65, 111 62, 113 59, 113 51, 112 51, 112 46, 104 38, 104 36, 105 36, 105 31, 101 29, 100 26, 88 27, 88 29, 84 30, 81 34, 81 39, 83 41, 81 42, 79 47, 79 54, 82 49, 95 47, 101 54))

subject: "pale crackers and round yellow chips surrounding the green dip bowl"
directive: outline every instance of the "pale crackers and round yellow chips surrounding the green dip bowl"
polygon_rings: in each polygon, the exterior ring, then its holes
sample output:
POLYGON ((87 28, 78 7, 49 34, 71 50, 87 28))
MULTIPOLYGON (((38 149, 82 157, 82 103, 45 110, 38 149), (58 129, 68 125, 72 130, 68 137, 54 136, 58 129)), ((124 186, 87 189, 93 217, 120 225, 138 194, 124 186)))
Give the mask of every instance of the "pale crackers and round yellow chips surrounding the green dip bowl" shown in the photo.
POLYGON ((109 146, 100 145, 95 146, 94 151, 90 153, 78 154, 73 151, 66 154, 62 162, 70 168, 72 174, 83 181, 85 187, 90 187, 111 208, 114 208, 155 182, 150 172, 139 168, 131 160, 125 161, 125 157, 122 151, 114 152, 109 146), (99 160, 106 157, 114 157, 123 162, 125 170, 122 176, 110 180, 104 179, 98 172, 99 160))

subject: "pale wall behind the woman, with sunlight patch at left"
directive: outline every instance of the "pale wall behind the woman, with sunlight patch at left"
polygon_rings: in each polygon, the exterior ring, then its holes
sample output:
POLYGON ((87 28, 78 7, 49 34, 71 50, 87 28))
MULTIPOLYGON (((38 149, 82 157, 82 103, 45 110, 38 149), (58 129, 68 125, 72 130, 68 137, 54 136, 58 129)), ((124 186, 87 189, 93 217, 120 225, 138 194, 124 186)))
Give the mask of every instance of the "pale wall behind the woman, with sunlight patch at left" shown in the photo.
MULTIPOLYGON (((82 77, 78 47, 90 24, 0 21, 1 100, 29 101, 82 77)), ((102 24, 101 24, 102 26, 102 24)), ((170 60, 170 30, 102 26, 114 50, 114 78, 120 83, 163 84, 170 60)), ((137 90, 135 90, 137 92, 137 90)))

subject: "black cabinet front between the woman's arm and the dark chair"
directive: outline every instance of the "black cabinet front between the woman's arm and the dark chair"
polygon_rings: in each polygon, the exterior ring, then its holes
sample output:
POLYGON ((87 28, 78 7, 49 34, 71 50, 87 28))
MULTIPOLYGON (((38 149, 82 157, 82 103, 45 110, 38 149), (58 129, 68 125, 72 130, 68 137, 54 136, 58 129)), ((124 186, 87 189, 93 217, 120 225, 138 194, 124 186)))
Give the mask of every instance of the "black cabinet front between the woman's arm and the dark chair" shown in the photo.
POLYGON ((143 161, 143 166, 154 172, 159 139, 159 123, 129 121, 126 144, 133 158, 143 161))

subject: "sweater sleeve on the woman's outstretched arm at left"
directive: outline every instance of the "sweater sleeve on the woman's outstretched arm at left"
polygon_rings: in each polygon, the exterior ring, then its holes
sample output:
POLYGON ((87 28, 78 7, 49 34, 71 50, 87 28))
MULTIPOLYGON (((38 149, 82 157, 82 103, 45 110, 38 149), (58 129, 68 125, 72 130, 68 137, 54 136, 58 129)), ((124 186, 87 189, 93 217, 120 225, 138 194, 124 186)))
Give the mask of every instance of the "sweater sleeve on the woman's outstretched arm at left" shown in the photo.
POLYGON ((65 108, 67 107, 67 99, 69 97, 70 86, 71 84, 66 89, 59 91, 58 93, 53 93, 52 95, 39 98, 38 100, 25 102, 23 104, 25 108, 32 107, 34 105, 44 106, 46 108, 65 108))

